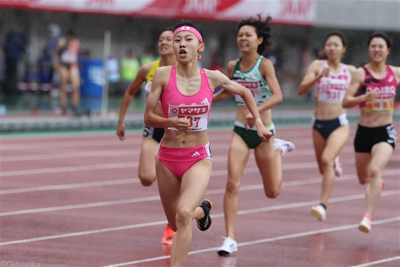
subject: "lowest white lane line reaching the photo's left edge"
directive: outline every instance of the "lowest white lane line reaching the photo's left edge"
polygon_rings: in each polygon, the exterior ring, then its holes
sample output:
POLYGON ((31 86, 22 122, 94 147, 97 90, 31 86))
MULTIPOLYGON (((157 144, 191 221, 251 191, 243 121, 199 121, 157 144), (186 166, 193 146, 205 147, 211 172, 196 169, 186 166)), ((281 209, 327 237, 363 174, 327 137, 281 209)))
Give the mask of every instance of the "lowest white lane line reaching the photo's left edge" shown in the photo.
MULTIPOLYGON (((399 193, 400 193, 400 190, 383 191, 381 196, 390 196, 390 195, 396 195, 396 194, 399 194, 399 193)), ((349 196, 343 196, 343 197, 330 198, 328 201, 329 202, 341 202, 341 201, 362 199, 364 197, 365 197, 364 194, 358 194, 358 195, 349 195, 349 196)), ((295 203, 290 203, 290 204, 281 204, 281 205, 275 205, 275 206, 269 206, 269 207, 263 207, 263 208, 257 208, 257 209, 250 209, 251 212, 249 212, 248 210, 239 210, 237 214, 241 215, 241 214, 257 213, 257 212, 263 212, 263 211, 269 211, 269 210, 277 210, 277 209, 287 209, 287 208, 293 208, 293 207, 309 206, 309 205, 318 204, 319 202, 320 201, 318 199, 318 200, 305 201, 305 202, 295 202, 295 203)), ((219 217, 223 217, 223 213, 212 214, 212 218, 219 218, 219 217)), ((372 223, 376 224, 376 222, 377 221, 373 221, 372 223)), ((85 234, 92 234, 92 233, 125 230, 125 229, 132 229, 132 228, 138 228, 138 227, 147 227, 147 226, 159 225, 159 224, 165 224, 165 223, 167 223, 166 220, 145 222, 145 223, 124 225, 124 226, 118 226, 118 227, 110 227, 110 228, 102 228, 102 229, 96 229, 96 230, 88 230, 88 231, 82 231, 82 232, 73 232, 73 233, 65 233, 65 234, 57 234, 57 235, 35 237, 35 238, 29 238, 29 239, 13 240, 13 241, 2 242, 2 243, 0 243, 0 245, 10 245, 10 244, 34 242, 34 241, 40 241, 40 240, 56 239, 56 238, 78 236, 78 235, 85 235, 85 234)), ((358 224, 357 224, 357 226, 358 226, 358 224)))

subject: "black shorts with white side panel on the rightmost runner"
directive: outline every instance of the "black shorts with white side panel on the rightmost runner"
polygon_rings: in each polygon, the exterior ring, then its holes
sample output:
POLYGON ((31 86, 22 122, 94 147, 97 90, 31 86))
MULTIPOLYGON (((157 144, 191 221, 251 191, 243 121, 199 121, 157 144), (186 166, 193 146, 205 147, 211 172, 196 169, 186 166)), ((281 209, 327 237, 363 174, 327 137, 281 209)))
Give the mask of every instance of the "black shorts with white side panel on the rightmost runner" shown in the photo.
POLYGON ((373 145, 386 142, 394 149, 397 133, 393 124, 379 127, 365 127, 357 125, 354 136, 354 151, 361 153, 371 153, 373 145))

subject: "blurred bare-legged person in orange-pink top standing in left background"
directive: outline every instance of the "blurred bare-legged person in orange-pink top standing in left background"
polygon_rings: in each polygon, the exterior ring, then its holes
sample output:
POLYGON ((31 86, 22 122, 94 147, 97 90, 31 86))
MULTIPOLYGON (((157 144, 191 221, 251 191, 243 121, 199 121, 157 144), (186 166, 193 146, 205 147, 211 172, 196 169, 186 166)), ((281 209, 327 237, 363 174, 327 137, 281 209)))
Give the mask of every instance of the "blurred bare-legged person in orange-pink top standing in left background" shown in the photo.
POLYGON ((75 116, 78 115, 80 101, 78 53, 79 40, 76 39, 75 33, 69 30, 66 37, 58 39, 52 53, 54 70, 60 75, 59 109, 56 113, 66 114, 66 84, 69 82, 72 85, 72 111, 75 116))

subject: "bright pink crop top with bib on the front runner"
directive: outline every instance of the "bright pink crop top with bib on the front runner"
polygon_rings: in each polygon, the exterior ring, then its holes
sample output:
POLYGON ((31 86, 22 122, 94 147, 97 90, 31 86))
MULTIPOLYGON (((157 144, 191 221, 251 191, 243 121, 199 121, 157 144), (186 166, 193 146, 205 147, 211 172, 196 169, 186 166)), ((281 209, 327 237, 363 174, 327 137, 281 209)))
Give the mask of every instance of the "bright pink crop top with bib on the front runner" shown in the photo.
MULTIPOLYGON (((187 131, 200 132, 207 129, 213 91, 208 83, 204 69, 200 69, 200 90, 193 95, 183 95, 176 85, 176 66, 172 66, 169 81, 161 94, 161 109, 164 118, 187 118, 190 121, 187 131)), ((173 127, 169 130, 177 131, 173 127)))

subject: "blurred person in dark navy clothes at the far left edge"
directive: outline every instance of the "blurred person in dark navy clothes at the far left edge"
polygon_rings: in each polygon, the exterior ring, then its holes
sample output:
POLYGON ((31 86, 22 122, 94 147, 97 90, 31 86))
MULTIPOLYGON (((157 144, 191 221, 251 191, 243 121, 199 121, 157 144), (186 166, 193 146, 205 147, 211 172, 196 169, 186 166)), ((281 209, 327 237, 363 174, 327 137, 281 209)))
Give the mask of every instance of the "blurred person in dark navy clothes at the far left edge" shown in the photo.
POLYGON ((26 39, 16 30, 10 30, 4 41, 5 86, 4 93, 16 94, 16 75, 18 61, 25 52, 26 39))

